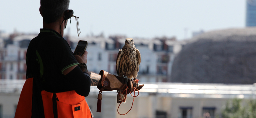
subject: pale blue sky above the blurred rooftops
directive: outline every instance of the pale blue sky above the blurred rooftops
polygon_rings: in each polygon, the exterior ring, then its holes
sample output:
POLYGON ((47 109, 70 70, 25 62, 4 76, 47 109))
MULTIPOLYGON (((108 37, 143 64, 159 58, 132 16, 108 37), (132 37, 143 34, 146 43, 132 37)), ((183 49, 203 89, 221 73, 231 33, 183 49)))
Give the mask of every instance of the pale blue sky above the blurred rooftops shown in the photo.
MULTIPOLYGON (((0 31, 39 33, 40 0, 0 0, 0 31)), ((176 37, 195 31, 245 27, 245 0, 70 0, 81 36, 176 37)), ((75 18, 64 34, 77 36, 75 18)))

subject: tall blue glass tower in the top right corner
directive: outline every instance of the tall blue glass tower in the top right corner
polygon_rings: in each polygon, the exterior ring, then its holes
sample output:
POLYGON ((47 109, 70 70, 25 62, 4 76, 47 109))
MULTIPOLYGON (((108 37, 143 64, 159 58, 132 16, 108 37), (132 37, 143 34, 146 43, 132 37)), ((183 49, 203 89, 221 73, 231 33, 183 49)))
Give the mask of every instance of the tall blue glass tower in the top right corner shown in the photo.
POLYGON ((246 26, 256 26, 256 0, 246 0, 246 26))

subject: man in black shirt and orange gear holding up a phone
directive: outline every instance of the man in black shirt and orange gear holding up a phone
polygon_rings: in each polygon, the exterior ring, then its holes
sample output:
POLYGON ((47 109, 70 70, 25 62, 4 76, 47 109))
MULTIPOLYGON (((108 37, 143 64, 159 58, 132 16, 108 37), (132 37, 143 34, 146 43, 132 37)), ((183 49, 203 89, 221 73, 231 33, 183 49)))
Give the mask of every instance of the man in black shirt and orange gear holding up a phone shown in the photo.
POLYGON ((88 75, 87 51, 74 55, 63 38, 68 6, 69 0, 41 0, 43 29, 28 46, 27 80, 15 118, 92 116, 84 97, 90 92, 91 81, 100 78, 88 75))

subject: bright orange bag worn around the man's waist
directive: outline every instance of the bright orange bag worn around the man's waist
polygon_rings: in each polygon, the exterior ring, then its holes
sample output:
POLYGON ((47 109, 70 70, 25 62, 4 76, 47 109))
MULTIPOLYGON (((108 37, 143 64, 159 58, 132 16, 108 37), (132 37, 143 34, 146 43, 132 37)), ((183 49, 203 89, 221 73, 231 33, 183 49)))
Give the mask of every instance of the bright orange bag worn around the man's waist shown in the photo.
MULTIPOLYGON (((31 118, 33 98, 33 78, 23 85, 14 118, 31 118)), ((92 118, 90 108, 84 96, 75 91, 52 93, 41 91, 45 118, 92 118)), ((35 116, 36 117, 36 116, 35 116)))

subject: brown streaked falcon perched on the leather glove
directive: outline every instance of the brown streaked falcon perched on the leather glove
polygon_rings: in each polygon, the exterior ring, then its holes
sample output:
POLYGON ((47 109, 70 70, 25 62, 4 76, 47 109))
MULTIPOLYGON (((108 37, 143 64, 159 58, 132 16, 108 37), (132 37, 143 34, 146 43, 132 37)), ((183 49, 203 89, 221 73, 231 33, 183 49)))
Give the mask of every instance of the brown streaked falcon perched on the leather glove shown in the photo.
POLYGON ((137 78, 140 65, 140 51, 134 46, 132 38, 125 39, 125 44, 116 58, 116 73, 119 77, 137 78))

